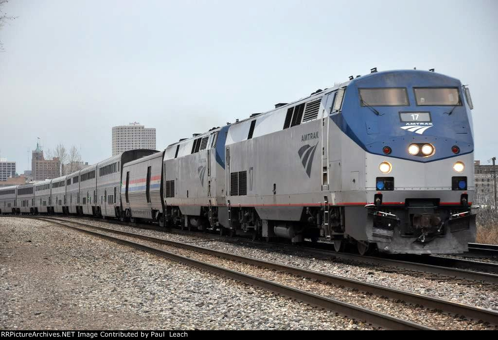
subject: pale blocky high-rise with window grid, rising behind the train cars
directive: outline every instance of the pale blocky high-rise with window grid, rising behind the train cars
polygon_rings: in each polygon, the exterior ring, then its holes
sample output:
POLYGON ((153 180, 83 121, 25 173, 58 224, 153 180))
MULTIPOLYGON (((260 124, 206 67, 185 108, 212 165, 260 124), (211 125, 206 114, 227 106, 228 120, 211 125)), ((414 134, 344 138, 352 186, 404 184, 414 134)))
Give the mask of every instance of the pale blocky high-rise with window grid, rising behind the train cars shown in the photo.
POLYGON ((140 123, 113 126, 113 156, 124 151, 156 148, 155 129, 145 128, 140 123))

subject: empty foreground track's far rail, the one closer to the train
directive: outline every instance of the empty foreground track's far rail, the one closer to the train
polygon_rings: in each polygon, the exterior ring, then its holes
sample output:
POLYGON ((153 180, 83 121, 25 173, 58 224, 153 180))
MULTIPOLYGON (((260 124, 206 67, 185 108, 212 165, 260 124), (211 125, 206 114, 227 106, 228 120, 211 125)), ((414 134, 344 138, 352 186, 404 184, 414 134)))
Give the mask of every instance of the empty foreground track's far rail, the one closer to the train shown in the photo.
POLYGON ((352 289, 357 289, 359 291, 369 292, 369 293, 372 293, 374 295, 384 296, 384 297, 388 297, 390 299, 395 299, 395 300, 402 300, 402 301, 405 301, 405 302, 413 304, 413 305, 420 305, 420 306, 423 306, 426 308, 438 309, 438 310, 442 310, 442 311, 447 312, 447 313, 463 315, 469 319, 474 319, 477 321, 487 321, 491 324, 498 325, 498 312, 490 310, 490 309, 469 306, 469 305, 465 305, 462 303, 452 302, 452 301, 448 301, 448 300, 444 300, 444 299, 438 299, 438 298, 434 298, 434 297, 422 295, 422 294, 417 294, 417 293, 406 292, 406 291, 402 291, 399 289, 388 288, 388 287, 376 285, 373 283, 363 282, 360 280, 355 280, 355 279, 351 279, 351 278, 347 278, 347 277, 343 277, 343 276, 338 276, 338 275, 327 274, 327 273, 318 272, 318 271, 314 271, 314 270, 308 270, 308 269, 290 266, 290 265, 286 265, 286 264, 282 264, 282 263, 276 263, 276 262, 266 261, 266 260, 257 259, 257 258, 253 258, 253 257, 217 251, 217 250, 213 250, 213 249, 209 249, 209 248, 205 248, 205 247, 187 244, 184 242, 170 241, 170 240, 155 238, 155 237, 146 236, 146 235, 129 233, 129 232, 125 232, 122 230, 97 227, 97 226, 92 226, 92 225, 88 225, 88 224, 84 224, 84 223, 80 223, 80 222, 67 221, 67 220, 57 219, 57 218, 52 218, 52 217, 49 219, 63 221, 63 222, 67 222, 67 223, 74 223, 74 224, 80 225, 82 227, 91 227, 91 228, 94 228, 94 229, 97 229, 100 231, 111 232, 111 233, 115 233, 115 234, 119 234, 119 235, 123 235, 123 236, 127 236, 127 237, 134 237, 134 238, 139 238, 139 239, 145 240, 145 241, 160 243, 163 245, 173 246, 173 247, 177 247, 177 248, 181 248, 181 249, 187 249, 187 250, 200 252, 200 253, 204 253, 204 254, 208 254, 208 255, 212 255, 212 256, 226 258, 226 259, 233 260, 233 261, 239 261, 239 262, 255 265, 255 266, 266 268, 266 269, 274 269, 274 270, 278 270, 278 271, 283 271, 283 272, 286 272, 286 273, 291 274, 291 275, 308 277, 308 278, 319 280, 322 282, 331 283, 334 285, 346 286, 346 287, 349 287, 352 289))

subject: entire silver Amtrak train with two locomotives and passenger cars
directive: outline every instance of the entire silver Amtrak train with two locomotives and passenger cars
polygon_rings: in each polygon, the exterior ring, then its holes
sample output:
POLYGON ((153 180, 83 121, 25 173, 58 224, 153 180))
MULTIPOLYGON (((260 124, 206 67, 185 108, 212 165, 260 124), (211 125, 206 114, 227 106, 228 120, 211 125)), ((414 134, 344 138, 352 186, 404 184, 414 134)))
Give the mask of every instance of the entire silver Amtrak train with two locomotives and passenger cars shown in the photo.
POLYGON ((163 151, 0 188, 0 213, 323 241, 362 255, 461 254, 476 237, 472 109, 458 79, 372 69, 163 151))

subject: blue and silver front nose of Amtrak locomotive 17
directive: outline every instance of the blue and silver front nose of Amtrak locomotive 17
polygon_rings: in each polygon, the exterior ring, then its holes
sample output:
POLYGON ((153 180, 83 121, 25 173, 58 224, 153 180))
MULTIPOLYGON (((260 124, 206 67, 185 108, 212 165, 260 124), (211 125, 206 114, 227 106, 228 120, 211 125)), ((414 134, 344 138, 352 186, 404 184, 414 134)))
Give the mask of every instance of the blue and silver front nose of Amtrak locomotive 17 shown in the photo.
MULTIPOLYGON (((352 180, 365 183, 368 213, 363 222, 355 219, 365 230, 352 227, 355 239, 390 253, 467 250, 475 236, 471 109, 467 87, 433 72, 379 72, 351 81, 341 114, 331 119, 354 144, 342 163, 352 180)), ((350 193, 340 197, 361 202, 357 187, 347 184, 350 193)))

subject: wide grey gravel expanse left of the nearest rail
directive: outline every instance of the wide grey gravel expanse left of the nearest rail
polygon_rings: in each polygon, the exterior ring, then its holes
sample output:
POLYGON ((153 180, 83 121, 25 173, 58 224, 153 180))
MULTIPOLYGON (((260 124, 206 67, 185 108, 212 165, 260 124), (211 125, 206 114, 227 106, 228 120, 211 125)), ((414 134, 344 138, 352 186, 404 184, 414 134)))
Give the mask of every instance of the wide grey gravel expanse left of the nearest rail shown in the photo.
POLYGON ((0 329, 372 329, 48 222, 0 217, 0 329))

